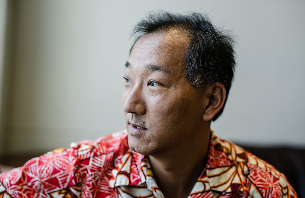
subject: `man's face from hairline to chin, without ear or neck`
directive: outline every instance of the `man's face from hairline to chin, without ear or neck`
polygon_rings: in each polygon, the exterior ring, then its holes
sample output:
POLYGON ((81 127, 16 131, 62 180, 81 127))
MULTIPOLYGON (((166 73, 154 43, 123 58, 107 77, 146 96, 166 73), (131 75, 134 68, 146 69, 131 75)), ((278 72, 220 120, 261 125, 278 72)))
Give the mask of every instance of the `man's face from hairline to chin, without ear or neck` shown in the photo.
POLYGON ((152 155, 191 143, 200 133, 204 90, 183 71, 187 38, 172 29, 141 37, 127 61, 122 104, 131 150, 152 155))

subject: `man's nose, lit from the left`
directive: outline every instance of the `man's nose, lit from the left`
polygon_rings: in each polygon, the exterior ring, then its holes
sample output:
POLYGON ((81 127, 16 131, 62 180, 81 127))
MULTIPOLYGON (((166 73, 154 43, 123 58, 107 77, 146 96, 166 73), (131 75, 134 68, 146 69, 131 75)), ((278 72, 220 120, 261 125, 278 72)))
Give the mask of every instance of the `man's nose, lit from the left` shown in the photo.
POLYGON ((146 106, 143 98, 143 90, 140 85, 128 89, 125 88, 123 93, 123 110, 126 113, 145 114, 146 106))

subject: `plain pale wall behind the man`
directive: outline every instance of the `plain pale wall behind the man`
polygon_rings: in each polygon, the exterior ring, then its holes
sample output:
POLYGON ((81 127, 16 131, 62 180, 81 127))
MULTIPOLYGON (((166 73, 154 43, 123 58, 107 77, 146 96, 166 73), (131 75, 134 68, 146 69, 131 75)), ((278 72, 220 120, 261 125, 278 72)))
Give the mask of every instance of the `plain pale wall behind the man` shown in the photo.
POLYGON ((150 10, 202 10, 238 37, 235 82, 212 124, 231 141, 305 146, 305 2, 17 1, 8 153, 124 129, 131 27, 150 10))

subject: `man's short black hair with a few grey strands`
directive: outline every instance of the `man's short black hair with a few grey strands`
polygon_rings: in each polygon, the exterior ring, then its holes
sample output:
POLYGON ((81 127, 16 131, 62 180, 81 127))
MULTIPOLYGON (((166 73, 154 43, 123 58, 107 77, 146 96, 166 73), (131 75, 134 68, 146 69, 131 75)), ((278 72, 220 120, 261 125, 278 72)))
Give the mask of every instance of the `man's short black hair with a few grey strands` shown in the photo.
MULTIPOLYGON (((172 14, 156 11, 149 12, 147 18, 135 25, 132 36, 137 36, 136 42, 145 34, 164 32, 171 28, 182 28, 188 37, 184 69, 188 82, 197 88, 222 83, 228 98, 235 71, 234 40, 229 32, 213 27, 210 19, 198 12, 172 14)), ((213 121, 223 109, 213 117, 213 121)))

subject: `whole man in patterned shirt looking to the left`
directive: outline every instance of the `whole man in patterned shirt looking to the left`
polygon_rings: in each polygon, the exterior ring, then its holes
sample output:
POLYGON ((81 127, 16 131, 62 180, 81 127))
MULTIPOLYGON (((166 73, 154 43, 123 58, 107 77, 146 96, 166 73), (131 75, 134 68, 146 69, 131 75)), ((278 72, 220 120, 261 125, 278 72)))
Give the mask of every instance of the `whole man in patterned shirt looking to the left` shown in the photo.
POLYGON ((152 13, 126 62, 126 129, 0 175, 0 197, 297 197, 282 173, 219 139, 231 38, 199 13, 152 13))

